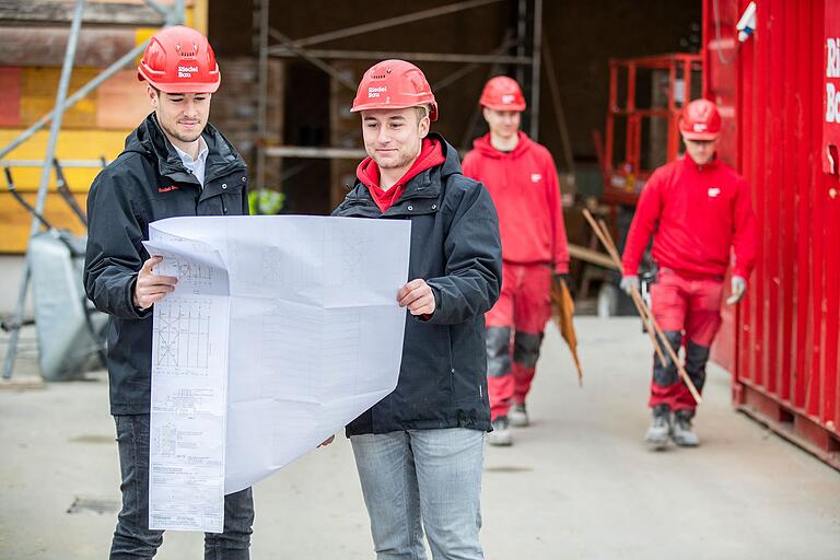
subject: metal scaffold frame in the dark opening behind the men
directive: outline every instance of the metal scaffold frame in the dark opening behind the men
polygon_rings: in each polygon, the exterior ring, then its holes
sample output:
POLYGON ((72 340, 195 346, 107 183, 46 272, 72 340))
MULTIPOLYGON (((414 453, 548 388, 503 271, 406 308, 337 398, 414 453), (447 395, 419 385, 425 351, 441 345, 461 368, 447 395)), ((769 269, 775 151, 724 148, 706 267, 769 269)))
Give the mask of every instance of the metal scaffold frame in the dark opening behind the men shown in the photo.
MULTIPOLYGON (((301 58, 319 68, 341 86, 355 92, 357 84, 329 65, 328 60, 382 60, 387 58, 402 58, 411 61, 463 63, 464 66, 446 75, 438 83, 432 84, 433 91, 452 85, 482 65, 514 65, 517 67, 516 78, 526 86, 528 103, 528 133, 537 139, 539 135, 539 78, 541 67, 541 40, 542 40, 542 0, 466 0, 448 3, 438 8, 421 10, 395 18, 374 21, 351 27, 345 27, 327 33, 320 33, 300 39, 291 39, 282 32, 272 28, 269 23, 270 0, 258 0, 254 12, 254 46, 259 60, 259 100, 258 100, 258 142, 257 142, 257 185, 265 185, 265 162, 267 158, 323 158, 330 160, 358 159, 364 155, 361 149, 346 149, 339 147, 301 147, 280 145, 271 147, 266 141, 265 122, 267 121, 268 96, 268 58, 301 58), (448 15, 466 10, 472 10, 501 2, 517 2, 515 30, 509 31, 502 43, 488 54, 458 54, 458 52, 413 52, 392 50, 353 50, 353 49, 314 49, 312 46, 328 43, 336 39, 353 37, 363 33, 387 30, 429 20, 441 15, 448 15), (530 24, 529 24, 530 23, 530 24), (275 44, 270 44, 275 40, 275 44), (510 54, 515 48, 515 54, 510 54)), ((465 138, 471 133, 479 116, 478 109, 469 121, 465 138)), ((464 143, 464 142, 462 142, 464 143)))

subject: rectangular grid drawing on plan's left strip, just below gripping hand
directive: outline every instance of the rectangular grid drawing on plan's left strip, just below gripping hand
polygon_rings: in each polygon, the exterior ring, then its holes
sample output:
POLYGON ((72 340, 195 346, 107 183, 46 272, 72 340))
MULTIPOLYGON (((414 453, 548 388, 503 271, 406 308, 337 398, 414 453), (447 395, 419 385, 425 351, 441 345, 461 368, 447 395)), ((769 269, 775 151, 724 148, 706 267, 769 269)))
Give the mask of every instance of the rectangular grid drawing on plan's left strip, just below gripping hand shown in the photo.
POLYGON ((156 365, 207 370, 210 358, 210 302, 161 301, 155 305, 156 365))

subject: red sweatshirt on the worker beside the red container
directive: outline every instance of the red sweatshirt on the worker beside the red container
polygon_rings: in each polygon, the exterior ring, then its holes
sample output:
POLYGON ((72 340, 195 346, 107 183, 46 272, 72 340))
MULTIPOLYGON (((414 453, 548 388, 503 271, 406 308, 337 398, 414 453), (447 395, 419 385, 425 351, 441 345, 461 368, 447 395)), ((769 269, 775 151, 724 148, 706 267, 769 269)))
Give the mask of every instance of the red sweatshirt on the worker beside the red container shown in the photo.
POLYGON ((661 267, 749 278, 756 260, 756 218, 749 186, 722 162, 697 165, 686 155, 656 170, 642 190, 627 235, 625 275, 637 275, 648 241, 661 267))

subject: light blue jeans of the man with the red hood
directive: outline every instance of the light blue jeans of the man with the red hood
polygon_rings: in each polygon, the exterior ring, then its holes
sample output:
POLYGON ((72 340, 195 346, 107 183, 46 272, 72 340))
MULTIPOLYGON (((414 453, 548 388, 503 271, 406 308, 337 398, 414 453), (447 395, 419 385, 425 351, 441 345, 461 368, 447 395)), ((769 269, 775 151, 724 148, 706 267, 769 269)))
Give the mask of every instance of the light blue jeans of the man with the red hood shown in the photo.
POLYGON ((350 438, 378 560, 485 558, 485 432, 451 428, 350 438))

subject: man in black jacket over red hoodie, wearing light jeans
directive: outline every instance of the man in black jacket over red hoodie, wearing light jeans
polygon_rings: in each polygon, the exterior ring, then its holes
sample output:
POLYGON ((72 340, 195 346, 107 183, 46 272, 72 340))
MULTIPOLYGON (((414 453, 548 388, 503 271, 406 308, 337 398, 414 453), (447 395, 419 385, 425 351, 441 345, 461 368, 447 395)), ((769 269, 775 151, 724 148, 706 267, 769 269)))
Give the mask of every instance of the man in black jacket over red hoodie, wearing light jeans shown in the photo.
POLYGON ((499 220, 457 152, 429 135, 438 104, 423 73, 385 60, 362 78, 365 159, 334 215, 411 221, 397 388, 347 427, 377 558, 483 558, 478 533, 490 429, 483 314, 499 298, 499 220))

